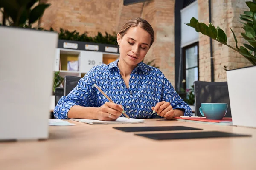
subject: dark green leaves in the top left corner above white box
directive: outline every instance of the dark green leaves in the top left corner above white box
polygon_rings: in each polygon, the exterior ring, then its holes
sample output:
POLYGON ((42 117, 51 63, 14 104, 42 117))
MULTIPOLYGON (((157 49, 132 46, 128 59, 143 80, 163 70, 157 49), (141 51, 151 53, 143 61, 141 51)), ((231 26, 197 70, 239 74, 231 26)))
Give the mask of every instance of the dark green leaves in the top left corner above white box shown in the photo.
POLYGON ((31 28, 50 4, 38 3, 38 0, 0 0, 3 13, 3 25, 31 28), (9 24, 6 24, 6 20, 9 24))

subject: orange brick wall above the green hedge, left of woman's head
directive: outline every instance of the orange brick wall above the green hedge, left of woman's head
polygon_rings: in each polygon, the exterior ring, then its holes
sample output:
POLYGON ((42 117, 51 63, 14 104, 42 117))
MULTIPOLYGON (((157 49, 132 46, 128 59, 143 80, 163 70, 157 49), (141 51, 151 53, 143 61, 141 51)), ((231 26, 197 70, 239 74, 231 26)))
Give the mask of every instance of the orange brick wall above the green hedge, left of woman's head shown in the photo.
POLYGON ((41 27, 64 28, 93 36, 99 32, 116 32, 122 0, 47 0, 51 6, 45 11, 41 27))

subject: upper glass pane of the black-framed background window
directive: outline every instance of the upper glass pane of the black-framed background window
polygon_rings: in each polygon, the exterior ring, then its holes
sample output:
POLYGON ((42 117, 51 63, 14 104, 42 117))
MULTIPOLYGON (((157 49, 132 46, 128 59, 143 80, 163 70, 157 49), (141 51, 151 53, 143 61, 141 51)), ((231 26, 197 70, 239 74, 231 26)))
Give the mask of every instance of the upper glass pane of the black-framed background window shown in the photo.
POLYGON ((198 46, 186 49, 186 68, 198 66, 198 46))

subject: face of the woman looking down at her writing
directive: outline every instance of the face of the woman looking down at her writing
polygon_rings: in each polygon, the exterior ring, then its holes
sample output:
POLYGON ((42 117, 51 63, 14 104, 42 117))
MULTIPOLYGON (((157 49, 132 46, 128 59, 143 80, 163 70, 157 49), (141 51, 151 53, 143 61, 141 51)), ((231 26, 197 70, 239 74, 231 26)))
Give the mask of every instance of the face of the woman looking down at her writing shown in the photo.
POLYGON ((150 48, 151 36, 143 28, 131 27, 121 38, 117 34, 120 59, 123 59, 128 65, 137 65, 140 63, 150 48))

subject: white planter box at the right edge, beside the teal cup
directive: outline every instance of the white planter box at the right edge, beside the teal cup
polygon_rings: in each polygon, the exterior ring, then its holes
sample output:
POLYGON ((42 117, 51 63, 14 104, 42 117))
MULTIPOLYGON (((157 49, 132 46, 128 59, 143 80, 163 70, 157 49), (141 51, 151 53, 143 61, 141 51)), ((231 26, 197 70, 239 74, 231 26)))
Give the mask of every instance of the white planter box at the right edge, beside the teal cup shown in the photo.
POLYGON ((256 127, 256 66, 227 71, 233 125, 256 127))

